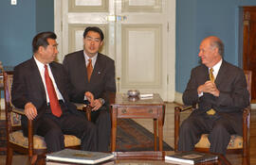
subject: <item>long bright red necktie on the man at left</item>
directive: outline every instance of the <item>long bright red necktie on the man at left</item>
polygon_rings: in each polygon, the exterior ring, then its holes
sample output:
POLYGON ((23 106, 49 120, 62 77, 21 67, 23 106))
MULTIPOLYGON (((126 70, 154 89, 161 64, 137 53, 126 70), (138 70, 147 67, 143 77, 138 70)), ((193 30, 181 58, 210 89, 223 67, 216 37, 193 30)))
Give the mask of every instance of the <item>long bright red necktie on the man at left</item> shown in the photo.
POLYGON ((59 104, 59 100, 57 98, 56 91, 53 87, 53 83, 49 77, 47 65, 45 65, 45 79, 46 79, 46 91, 49 96, 49 104, 50 104, 51 112, 55 116, 60 117, 63 111, 59 104))

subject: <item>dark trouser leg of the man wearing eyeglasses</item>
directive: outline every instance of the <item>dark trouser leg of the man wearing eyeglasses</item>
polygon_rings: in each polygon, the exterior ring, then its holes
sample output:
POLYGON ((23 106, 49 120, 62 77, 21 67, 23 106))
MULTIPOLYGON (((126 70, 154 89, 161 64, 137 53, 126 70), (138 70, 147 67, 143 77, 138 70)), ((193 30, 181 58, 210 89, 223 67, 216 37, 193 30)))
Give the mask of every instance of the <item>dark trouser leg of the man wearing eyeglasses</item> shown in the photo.
POLYGON ((97 125, 98 151, 107 152, 111 136, 111 119, 106 108, 92 111, 91 121, 97 125))

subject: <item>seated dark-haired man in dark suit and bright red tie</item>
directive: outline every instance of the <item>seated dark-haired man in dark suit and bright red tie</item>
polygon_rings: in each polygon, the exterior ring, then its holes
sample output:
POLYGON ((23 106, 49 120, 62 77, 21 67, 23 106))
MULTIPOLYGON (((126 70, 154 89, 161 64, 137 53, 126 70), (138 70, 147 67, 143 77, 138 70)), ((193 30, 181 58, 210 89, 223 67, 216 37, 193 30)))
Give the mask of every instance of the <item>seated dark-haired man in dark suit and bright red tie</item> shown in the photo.
POLYGON ((62 64, 54 62, 58 54, 56 35, 42 32, 32 41, 33 57, 14 68, 11 101, 25 108, 22 127, 27 136, 27 119, 33 121, 33 133, 43 136, 48 152, 64 149, 64 134, 81 139, 82 150, 97 151, 96 126, 82 118, 69 102, 70 95, 94 99, 91 92, 71 88, 62 64))

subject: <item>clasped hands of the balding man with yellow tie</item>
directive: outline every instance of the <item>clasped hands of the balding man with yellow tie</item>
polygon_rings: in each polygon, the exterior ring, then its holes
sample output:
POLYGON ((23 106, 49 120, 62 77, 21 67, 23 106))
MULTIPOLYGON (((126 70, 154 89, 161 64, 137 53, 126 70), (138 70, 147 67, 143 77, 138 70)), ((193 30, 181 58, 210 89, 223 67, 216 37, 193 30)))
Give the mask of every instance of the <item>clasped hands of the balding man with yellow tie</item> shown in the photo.
POLYGON ((197 92, 198 94, 200 94, 201 92, 209 92, 216 97, 220 95, 220 91, 218 91, 215 83, 212 83, 211 81, 207 81, 205 84, 199 86, 197 92))

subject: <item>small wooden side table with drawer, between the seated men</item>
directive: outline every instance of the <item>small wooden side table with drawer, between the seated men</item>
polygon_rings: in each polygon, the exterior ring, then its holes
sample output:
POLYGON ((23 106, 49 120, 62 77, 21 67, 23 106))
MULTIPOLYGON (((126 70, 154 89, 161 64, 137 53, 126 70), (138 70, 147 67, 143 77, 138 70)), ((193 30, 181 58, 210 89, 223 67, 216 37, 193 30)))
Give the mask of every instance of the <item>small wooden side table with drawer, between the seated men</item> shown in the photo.
POLYGON ((159 151, 163 150, 163 123, 165 105, 159 94, 154 94, 150 99, 129 98, 127 94, 117 93, 114 98, 110 98, 112 107, 112 137, 111 151, 116 151, 117 120, 118 118, 137 118, 154 120, 154 149, 157 150, 157 125, 159 151))

